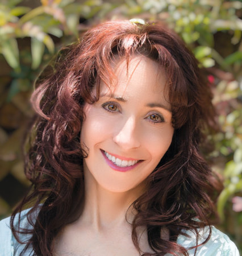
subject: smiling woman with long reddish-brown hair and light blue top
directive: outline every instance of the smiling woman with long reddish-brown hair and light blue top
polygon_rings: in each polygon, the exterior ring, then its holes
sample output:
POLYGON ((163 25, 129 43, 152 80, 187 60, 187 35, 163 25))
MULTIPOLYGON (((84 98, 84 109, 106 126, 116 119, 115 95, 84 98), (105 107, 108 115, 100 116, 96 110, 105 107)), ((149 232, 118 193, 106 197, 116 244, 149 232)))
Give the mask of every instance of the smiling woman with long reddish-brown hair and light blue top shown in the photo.
POLYGON ((174 32, 103 23, 62 51, 36 87, 25 166, 33 185, 11 230, 1 223, 2 251, 9 243, 14 255, 239 255, 210 225, 219 181, 199 142, 214 109, 174 32))

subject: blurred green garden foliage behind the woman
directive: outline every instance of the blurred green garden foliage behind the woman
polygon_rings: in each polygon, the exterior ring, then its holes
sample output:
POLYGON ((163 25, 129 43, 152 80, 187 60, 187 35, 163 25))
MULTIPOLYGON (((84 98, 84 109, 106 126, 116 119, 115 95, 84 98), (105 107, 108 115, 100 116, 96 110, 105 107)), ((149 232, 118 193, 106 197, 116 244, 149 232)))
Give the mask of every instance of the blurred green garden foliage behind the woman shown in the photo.
POLYGON ((55 53, 106 19, 164 20, 185 40, 214 93, 220 131, 205 152, 224 180, 218 228, 242 252, 242 2, 223 0, 1 0, 0 220, 28 188, 21 144, 34 80, 55 53))

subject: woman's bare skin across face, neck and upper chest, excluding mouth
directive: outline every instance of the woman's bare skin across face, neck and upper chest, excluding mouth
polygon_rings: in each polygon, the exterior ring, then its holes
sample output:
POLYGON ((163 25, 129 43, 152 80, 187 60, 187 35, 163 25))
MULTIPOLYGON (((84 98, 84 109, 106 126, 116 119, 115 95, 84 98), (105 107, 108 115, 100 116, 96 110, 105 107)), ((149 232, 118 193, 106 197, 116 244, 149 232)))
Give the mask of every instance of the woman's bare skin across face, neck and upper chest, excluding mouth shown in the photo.
MULTIPOLYGON (((164 97, 165 72, 155 61, 135 55, 128 74, 124 59, 116 59, 112 67, 117 83, 101 82, 99 100, 84 106, 81 143, 89 148, 84 210, 57 237, 56 255, 139 255, 128 223, 135 212, 129 207, 172 142, 172 113, 164 97), (116 170, 103 151, 139 162, 116 170)), ((141 249, 152 252, 145 228, 138 234, 141 249)))

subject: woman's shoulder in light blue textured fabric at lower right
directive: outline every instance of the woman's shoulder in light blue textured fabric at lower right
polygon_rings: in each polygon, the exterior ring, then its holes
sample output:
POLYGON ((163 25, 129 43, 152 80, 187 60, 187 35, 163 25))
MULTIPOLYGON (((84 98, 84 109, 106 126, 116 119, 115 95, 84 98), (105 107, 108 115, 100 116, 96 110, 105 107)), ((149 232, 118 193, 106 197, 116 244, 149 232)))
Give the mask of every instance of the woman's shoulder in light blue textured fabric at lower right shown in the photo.
MULTIPOLYGON (((204 244, 198 247, 197 256, 239 256, 239 251, 230 238, 216 229, 214 226, 211 227, 211 237, 204 244)), ((189 231, 186 232, 189 237, 178 236, 177 243, 182 245, 185 248, 189 248, 196 245, 196 237, 195 232, 189 231)), ((206 227, 204 230, 199 232, 199 241, 201 244, 206 240, 209 234, 209 228, 206 227)), ((188 251, 189 255, 194 255, 195 249, 191 249, 188 251)))

